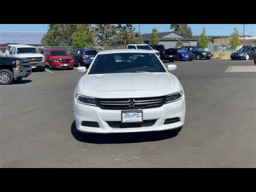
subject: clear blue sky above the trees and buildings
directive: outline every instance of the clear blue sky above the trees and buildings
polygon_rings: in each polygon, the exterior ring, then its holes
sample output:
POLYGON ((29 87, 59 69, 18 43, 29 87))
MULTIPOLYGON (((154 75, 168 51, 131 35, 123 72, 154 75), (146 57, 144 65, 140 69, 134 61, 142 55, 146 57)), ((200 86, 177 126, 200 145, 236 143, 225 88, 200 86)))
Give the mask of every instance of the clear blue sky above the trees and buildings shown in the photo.
MULTIPOLYGON (((134 24, 138 30, 138 24, 134 24)), ((234 27, 238 28, 240 34, 243 33, 242 24, 189 24, 192 28, 193 35, 199 35, 202 28, 206 28, 207 35, 230 35, 234 27)), ((152 28, 158 32, 170 31, 170 24, 141 24, 141 33, 150 33, 152 28)), ((47 24, 0 24, 0 31, 41 31, 46 32, 47 24)), ((245 34, 256 36, 256 24, 247 24, 245 34)))

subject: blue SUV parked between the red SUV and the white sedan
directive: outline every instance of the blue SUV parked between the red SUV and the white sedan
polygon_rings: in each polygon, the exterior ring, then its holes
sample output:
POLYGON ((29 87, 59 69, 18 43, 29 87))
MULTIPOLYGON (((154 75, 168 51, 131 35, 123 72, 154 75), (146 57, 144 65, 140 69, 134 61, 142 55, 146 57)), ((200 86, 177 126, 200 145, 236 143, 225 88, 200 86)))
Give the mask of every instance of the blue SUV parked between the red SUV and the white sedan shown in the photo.
POLYGON ((78 67, 89 67, 98 52, 95 49, 76 49, 72 57, 78 67))

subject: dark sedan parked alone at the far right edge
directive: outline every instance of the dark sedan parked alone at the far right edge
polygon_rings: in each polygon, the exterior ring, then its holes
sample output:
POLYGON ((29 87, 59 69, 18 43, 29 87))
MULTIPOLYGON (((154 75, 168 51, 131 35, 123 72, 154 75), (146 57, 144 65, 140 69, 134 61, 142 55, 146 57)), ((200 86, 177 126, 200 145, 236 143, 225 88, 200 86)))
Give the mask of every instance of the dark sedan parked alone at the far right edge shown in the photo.
POLYGON ((230 55, 232 60, 235 59, 255 59, 256 58, 256 47, 253 46, 243 46, 238 51, 230 55))

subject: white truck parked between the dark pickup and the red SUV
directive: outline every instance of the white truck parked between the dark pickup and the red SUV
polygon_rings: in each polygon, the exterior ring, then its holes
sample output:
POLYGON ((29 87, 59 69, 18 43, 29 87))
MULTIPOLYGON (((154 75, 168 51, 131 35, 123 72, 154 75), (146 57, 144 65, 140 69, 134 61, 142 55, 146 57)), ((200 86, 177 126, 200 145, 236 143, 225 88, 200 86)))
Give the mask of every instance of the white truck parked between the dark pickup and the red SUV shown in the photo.
POLYGON ((45 70, 45 58, 38 49, 30 45, 11 44, 5 50, 5 56, 28 59, 33 69, 45 70))

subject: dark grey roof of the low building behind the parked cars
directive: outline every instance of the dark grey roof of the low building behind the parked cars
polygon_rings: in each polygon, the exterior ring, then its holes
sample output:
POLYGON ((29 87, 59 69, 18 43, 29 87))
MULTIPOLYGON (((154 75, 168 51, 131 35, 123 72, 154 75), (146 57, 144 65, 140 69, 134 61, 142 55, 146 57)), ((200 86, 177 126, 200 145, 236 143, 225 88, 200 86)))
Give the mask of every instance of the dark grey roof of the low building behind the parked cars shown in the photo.
MULTIPOLYGON (((147 33, 147 34, 142 34, 142 40, 143 41, 150 41, 150 37, 151 37, 152 33, 147 33)), ((173 31, 168 31, 168 32, 159 32, 158 34, 158 38, 160 41, 176 41, 176 40, 182 40, 182 41, 197 41, 197 38, 185 38, 184 36, 177 34, 176 32, 173 31), (178 36, 180 36, 179 38, 164 38, 164 36, 167 36, 171 33, 174 33, 178 36)))

